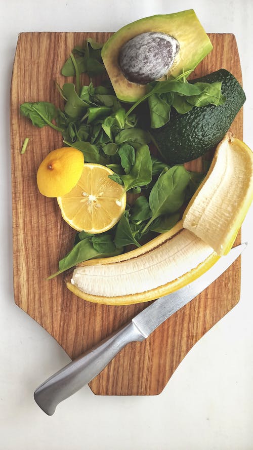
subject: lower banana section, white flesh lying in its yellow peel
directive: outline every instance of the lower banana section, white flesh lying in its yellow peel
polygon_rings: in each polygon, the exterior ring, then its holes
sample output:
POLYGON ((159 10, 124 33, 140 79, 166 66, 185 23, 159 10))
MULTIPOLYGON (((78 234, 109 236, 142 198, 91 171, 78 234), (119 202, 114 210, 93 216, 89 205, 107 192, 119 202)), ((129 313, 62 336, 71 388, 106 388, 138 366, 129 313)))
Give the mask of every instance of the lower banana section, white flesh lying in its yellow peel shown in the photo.
POLYGON ((182 228, 181 221, 132 252, 80 264, 67 287, 96 303, 147 302, 180 289, 218 259, 211 247, 182 228))

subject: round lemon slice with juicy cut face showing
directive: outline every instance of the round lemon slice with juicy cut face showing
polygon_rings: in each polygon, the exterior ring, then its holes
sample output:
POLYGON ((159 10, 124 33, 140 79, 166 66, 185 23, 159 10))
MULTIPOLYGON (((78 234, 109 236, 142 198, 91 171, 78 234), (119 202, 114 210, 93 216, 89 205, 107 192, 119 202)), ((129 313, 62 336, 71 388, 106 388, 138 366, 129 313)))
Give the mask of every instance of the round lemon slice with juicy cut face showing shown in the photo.
POLYGON ((75 230, 103 233, 112 228, 125 210, 123 187, 108 178, 110 169, 86 163, 76 186, 57 197, 63 219, 75 230))

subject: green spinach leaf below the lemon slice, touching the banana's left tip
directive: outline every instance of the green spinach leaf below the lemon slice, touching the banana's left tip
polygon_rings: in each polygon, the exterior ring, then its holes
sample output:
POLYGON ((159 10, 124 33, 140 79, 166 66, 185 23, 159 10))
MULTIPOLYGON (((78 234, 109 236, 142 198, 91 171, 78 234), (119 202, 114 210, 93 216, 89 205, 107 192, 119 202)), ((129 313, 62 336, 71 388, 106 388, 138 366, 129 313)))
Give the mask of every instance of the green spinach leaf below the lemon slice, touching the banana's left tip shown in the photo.
MULTIPOLYGON (((102 235, 100 237, 102 237, 102 235)), ((86 237, 80 240, 75 244, 73 249, 59 261, 58 272, 50 275, 47 279, 54 278, 56 275, 59 275, 83 261, 88 261, 93 258, 106 258, 122 253, 122 247, 116 248, 111 238, 108 239, 107 242, 105 241, 107 238, 102 242, 103 239, 104 238, 102 238, 100 242, 98 238, 96 239, 94 237, 86 237), (93 239, 94 243, 92 241, 93 239)))

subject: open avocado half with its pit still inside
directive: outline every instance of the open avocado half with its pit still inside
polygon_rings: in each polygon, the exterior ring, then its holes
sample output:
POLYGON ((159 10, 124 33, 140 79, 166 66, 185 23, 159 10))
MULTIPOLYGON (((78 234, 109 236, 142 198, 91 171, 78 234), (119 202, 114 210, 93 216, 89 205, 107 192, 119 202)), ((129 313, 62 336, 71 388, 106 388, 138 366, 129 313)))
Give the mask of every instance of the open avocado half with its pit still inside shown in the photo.
POLYGON ((149 88, 141 84, 150 79, 146 75, 152 73, 154 79, 165 73, 176 77, 182 71, 192 71, 212 49, 195 12, 187 10, 145 17, 123 26, 104 44, 101 56, 116 96, 123 102, 136 102, 148 92, 149 88), (161 34, 170 40, 169 58, 161 34), (147 42, 146 38, 152 36, 154 39, 147 42))

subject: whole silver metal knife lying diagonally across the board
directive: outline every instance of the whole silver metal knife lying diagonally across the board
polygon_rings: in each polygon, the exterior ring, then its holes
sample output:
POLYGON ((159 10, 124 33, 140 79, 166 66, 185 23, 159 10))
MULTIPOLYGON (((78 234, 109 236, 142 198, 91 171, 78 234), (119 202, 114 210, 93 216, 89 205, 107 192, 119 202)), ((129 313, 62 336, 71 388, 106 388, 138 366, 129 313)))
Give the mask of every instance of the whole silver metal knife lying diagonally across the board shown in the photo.
POLYGON ((155 300, 120 330, 89 349, 52 375, 34 392, 34 400, 49 416, 56 406, 95 378, 125 345, 146 339, 168 317, 193 300, 240 256, 247 243, 234 247, 228 255, 195 281, 155 300))

